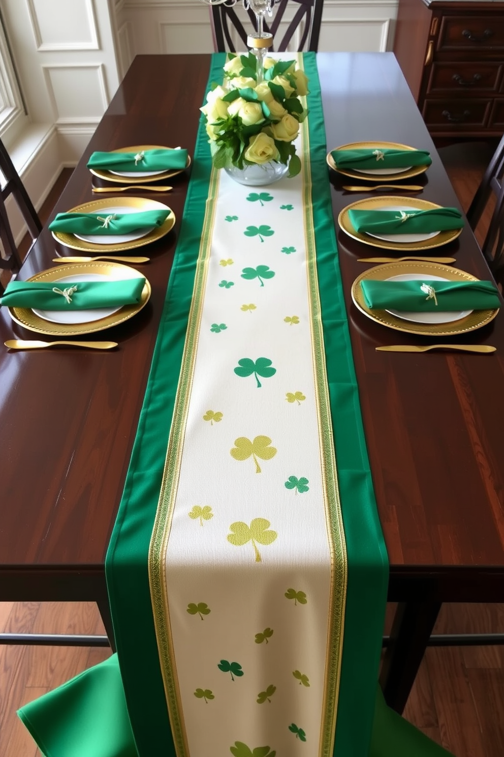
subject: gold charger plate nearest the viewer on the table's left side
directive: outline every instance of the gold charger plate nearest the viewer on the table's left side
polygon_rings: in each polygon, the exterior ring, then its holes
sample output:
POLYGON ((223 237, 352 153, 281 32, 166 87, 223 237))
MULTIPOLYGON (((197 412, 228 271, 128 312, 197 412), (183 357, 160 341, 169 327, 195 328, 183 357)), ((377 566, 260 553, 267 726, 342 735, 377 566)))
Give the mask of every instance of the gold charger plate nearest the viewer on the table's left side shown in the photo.
MULTIPOLYGON (((138 271, 134 268, 130 268, 130 266, 122 266, 120 263, 107 263, 107 261, 95 260, 92 263, 69 263, 64 266, 48 268, 45 271, 36 273, 35 276, 31 276, 26 280, 29 282, 57 282, 60 279, 68 278, 69 276, 78 273, 98 273, 102 276, 111 276, 114 279, 117 279, 118 277, 121 278, 118 274, 125 270, 135 273, 135 276, 138 276, 138 271), (116 276, 114 276, 114 274, 116 274, 116 276)), ((129 276, 123 276, 122 278, 129 278, 129 276)), ((149 301, 149 298, 150 283, 145 279, 145 285, 139 303, 134 305, 124 305, 110 316, 86 323, 53 323, 36 315, 36 313, 34 313, 29 307, 9 307, 8 310, 13 321, 19 323, 20 326, 23 326, 30 331, 52 336, 78 336, 92 334, 97 331, 104 331, 104 329, 110 329, 110 326, 117 326, 118 323, 127 321, 129 318, 136 316, 136 314, 140 312, 149 301)))

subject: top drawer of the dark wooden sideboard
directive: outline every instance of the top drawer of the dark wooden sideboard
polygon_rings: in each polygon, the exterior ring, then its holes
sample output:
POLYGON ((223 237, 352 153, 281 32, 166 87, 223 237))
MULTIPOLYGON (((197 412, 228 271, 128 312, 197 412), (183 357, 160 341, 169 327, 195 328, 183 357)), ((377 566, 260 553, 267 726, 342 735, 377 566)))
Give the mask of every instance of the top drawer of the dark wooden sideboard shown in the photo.
POLYGON ((444 16, 438 50, 495 50, 504 48, 504 17, 444 16))

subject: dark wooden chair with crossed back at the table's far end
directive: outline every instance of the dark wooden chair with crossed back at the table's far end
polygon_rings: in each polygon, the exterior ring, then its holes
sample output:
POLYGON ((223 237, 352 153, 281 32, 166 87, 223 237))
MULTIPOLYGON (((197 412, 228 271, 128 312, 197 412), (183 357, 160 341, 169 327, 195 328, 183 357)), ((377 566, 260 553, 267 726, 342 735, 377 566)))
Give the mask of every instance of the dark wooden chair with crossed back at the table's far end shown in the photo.
MULTIPOLYGON (((283 20, 283 15, 288 7, 289 9, 292 8, 292 10, 295 9, 295 14, 289 22, 283 36, 281 36, 281 34, 279 35, 281 39, 276 42, 275 49, 279 52, 285 51, 287 45, 289 45, 289 42, 294 36, 294 33, 299 29, 300 38, 298 40, 297 50, 302 50, 308 39, 307 49, 309 51, 317 52, 323 0, 276 0, 274 3, 273 21, 270 24, 267 24, 264 21, 264 31, 271 32, 274 38, 277 35, 280 23, 283 20)), ((243 42, 244 48, 246 48, 247 33, 234 8, 224 4, 212 5, 209 10, 215 51, 225 52, 226 45, 227 50, 230 51, 233 51, 236 48, 236 42, 233 42, 231 36, 232 30, 237 33, 243 42)), ((252 21, 252 28, 255 29, 255 15, 250 8, 248 14, 252 21)), ((270 49, 271 51, 274 50, 274 48, 270 49)))

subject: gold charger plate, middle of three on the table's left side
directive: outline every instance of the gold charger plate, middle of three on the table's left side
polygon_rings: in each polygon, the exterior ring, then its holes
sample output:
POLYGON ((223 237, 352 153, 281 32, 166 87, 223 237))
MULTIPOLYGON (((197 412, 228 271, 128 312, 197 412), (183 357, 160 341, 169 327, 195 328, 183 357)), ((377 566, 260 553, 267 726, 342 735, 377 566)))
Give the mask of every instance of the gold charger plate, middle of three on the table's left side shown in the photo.
POLYGON ((85 202, 82 205, 76 205, 67 210, 67 213, 99 213, 104 209, 114 207, 134 207, 135 210, 141 212, 142 210, 169 210, 169 216, 166 217, 164 223, 161 226, 156 226, 151 232, 138 239, 131 239, 130 241, 118 242, 116 245, 95 245, 94 242, 85 241, 79 239, 74 234, 66 234, 64 232, 51 232, 54 239, 59 241, 65 247, 70 247, 73 250, 81 250, 85 252, 122 252, 124 250, 133 250, 137 247, 144 247, 149 245, 151 241, 161 238, 169 231, 173 229, 175 225, 175 213, 168 207, 157 200, 151 200, 150 198, 143 197, 113 197, 110 199, 100 198, 100 200, 92 200, 91 202, 85 202))

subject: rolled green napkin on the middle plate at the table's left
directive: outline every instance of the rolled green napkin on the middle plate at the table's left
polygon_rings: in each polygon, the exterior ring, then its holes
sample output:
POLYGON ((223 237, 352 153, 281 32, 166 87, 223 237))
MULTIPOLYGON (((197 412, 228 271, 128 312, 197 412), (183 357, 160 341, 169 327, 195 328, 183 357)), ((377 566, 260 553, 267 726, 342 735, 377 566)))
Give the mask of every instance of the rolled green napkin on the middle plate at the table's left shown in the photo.
POLYGON ((129 234, 161 226, 172 211, 144 210, 142 213, 58 213, 49 224, 52 232, 85 235, 129 234))

